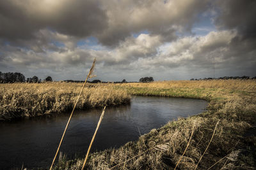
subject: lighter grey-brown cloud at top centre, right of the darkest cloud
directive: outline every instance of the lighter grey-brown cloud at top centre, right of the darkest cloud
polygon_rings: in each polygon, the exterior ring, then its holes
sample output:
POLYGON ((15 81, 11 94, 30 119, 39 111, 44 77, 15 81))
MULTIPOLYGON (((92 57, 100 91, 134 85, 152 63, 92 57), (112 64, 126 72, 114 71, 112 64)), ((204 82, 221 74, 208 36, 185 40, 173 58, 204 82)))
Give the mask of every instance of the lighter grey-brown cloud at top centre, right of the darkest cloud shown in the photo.
POLYGON ((147 30, 166 41, 177 38, 175 32, 190 31, 205 1, 102 1, 108 16, 108 28, 97 36, 103 45, 116 45, 133 32, 147 30), (116 8, 118 6, 118 8, 116 8))

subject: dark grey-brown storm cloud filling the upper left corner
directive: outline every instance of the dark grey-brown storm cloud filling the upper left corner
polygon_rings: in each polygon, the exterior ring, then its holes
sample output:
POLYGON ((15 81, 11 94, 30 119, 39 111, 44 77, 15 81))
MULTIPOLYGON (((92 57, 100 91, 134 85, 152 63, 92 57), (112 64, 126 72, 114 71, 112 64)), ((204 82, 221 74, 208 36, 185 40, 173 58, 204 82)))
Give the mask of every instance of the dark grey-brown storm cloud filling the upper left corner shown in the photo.
POLYGON ((10 41, 35 38, 49 28, 71 36, 91 36, 107 26, 99 1, 0 1, 0 37, 10 41))

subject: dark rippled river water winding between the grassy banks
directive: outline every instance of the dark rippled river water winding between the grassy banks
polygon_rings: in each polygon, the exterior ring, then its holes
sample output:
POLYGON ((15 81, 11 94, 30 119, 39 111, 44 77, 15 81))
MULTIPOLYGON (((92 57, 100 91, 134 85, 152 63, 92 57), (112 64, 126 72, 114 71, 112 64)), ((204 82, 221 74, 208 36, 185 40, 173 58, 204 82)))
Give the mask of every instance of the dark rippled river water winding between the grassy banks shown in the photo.
MULTIPOLYGON (((172 97, 132 97, 129 106, 106 108, 91 152, 117 148, 177 117, 205 110, 206 101, 172 97)), ((72 159, 86 154, 101 110, 77 111, 60 151, 72 159), (76 154, 75 154, 76 153, 76 154)), ((50 167, 69 115, 0 123, 0 169, 50 167)), ((58 159, 56 160, 58 161, 58 159)))

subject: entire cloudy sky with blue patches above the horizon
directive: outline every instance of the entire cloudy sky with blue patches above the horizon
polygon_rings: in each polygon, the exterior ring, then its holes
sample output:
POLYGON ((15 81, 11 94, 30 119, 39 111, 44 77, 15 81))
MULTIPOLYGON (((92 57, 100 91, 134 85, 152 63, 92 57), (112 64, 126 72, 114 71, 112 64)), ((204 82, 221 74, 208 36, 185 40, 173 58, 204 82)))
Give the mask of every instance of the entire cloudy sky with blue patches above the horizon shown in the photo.
POLYGON ((102 81, 256 76, 255 0, 0 0, 0 71, 102 81), (214 71, 213 71, 214 68, 214 71))

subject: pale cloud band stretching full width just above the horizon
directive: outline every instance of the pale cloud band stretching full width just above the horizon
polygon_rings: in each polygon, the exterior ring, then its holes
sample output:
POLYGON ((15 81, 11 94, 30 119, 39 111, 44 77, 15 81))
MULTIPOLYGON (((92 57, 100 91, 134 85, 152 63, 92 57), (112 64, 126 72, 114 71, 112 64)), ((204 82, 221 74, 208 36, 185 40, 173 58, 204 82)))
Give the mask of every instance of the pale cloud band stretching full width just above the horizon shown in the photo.
MULTIPOLYGON (((243 50, 242 47, 234 49, 232 39, 236 36, 236 31, 212 31, 206 36, 186 36, 172 43, 163 44, 161 36, 140 34, 137 38, 132 36, 126 38, 115 49, 93 50, 79 46, 74 50, 68 50, 61 47, 65 50, 44 53, 5 46, 2 54, 4 57, 1 57, 0 63, 4 63, 5 66, 27 67, 38 71, 49 69, 54 75, 65 72, 67 77, 72 78, 71 75, 77 71, 79 75, 83 75, 81 72, 89 68, 92 60, 97 57, 97 73, 102 80, 115 74, 124 78, 127 74, 132 79, 134 78, 132 74, 147 76, 150 73, 158 73, 161 79, 168 79, 170 75, 184 79, 195 77, 195 74, 212 76, 214 58, 217 75, 225 71, 231 76, 238 74, 242 76, 245 73, 253 76, 256 50, 242 53, 240 52, 243 50), (177 70, 177 72, 166 74, 168 70, 177 70), (166 75, 163 76, 163 74, 166 75), (189 77, 184 77, 186 74, 189 77)), ((114 79, 118 80, 118 78, 114 79)))

